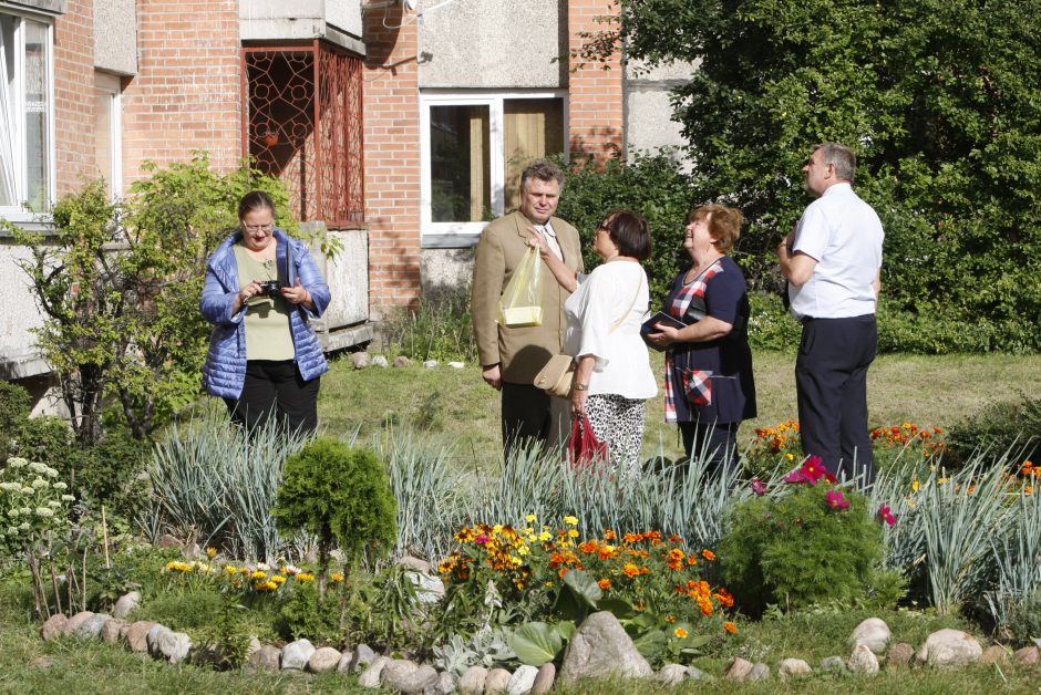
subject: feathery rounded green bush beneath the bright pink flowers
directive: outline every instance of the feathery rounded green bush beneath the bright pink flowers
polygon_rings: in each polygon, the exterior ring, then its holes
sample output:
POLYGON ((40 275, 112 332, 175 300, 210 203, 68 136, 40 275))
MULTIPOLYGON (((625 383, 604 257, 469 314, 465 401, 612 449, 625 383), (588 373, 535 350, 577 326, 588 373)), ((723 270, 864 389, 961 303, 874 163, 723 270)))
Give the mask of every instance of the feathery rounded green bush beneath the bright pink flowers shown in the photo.
POLYGON ((863 495, 842 488, 848 509, 833 509, 825 483, 786 487, 780 497, 739 502, 726 519, 720 559, 742 609, 785 610, 867 600, 879 583, 883 531, 863 495))

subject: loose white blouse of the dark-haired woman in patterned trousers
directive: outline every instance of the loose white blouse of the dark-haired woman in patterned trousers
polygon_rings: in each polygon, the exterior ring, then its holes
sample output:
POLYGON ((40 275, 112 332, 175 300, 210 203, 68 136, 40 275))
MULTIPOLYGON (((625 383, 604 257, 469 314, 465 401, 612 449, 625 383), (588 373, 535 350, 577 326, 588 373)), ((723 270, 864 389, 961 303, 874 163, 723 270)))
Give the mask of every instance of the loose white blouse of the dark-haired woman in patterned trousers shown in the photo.
POLYGON ((631 261, 608 262, 580 280, 564 303, 564 352, 596 356, 589 393, 655 397, 658 383, 640 338, 650 301, 643 268, 631 261))

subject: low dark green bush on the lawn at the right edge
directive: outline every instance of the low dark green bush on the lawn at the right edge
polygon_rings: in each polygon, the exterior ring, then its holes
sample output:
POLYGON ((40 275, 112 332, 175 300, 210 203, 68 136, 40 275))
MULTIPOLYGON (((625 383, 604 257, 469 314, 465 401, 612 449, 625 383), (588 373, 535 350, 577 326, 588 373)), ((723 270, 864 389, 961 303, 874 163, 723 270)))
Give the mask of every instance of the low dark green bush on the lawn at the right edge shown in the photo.
POLYGON ((945 463, 960 467, 973 452, 988 449, 994 458, 1008 452, 1013 464, 1041 464, 1041 398, 1020 393, 1017 401, 988 403, 947 432, 945 463))

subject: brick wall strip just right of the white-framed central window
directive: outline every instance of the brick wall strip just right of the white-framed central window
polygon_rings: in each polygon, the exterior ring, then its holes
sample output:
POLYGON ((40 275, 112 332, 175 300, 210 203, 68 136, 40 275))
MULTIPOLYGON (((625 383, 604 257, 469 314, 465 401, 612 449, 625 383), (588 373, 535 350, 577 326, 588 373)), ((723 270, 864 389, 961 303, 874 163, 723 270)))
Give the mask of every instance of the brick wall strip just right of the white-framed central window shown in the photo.
MULTIPOLYGON (((618 7, 607 0, 568 0, 567 32, 569 49, 581 46, 581 32, 604 31, 608 24, 597 22, 598 17, 617 13, 618 7)), ((625 94, 621 54, 607 62, 588 63, 578 70, 575 59, 568 75, 568 132, 571 156, 591 154, 602 160, 625 147, 625 94)))

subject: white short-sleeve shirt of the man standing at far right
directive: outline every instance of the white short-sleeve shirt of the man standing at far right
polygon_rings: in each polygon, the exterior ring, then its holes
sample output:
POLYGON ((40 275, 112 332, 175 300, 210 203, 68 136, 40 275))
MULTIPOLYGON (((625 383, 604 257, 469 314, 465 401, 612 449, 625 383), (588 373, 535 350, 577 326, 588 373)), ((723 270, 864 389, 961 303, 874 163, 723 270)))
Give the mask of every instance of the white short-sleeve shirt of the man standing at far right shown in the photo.
POLYGON ((875 313, 882 268, 882 220, 849 184, 835 184, 810 204, 795 228, 792 251, 817 261, 802 287, 789 287, 796 319, 843 319, 875 313))

